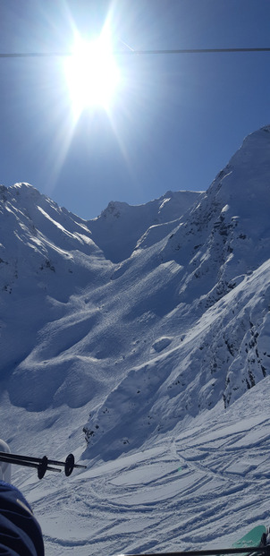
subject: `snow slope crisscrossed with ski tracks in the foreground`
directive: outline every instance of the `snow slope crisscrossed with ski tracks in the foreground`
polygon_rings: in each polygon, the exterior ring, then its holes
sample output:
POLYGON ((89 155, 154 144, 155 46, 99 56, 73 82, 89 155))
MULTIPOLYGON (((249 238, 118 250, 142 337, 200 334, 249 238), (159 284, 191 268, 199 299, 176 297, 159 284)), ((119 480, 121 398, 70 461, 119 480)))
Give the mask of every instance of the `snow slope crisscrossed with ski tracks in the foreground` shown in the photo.
POLYGON ((224 411, 199 417, 121 458, 66 479, 17 481, 46 553, 116 554, 224 548, 269 524, 269 377, 224 411))

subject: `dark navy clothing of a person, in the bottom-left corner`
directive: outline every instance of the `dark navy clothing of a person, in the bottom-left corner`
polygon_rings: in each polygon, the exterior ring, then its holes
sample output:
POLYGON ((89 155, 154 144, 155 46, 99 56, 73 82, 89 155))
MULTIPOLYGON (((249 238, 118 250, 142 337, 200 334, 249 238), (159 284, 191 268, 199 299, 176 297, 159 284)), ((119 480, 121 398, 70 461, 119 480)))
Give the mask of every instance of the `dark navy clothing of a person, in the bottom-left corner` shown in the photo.
POLYGON ((41 528, 30 505, 13 485, 0 481, 0 554, 44 556, 41 528))

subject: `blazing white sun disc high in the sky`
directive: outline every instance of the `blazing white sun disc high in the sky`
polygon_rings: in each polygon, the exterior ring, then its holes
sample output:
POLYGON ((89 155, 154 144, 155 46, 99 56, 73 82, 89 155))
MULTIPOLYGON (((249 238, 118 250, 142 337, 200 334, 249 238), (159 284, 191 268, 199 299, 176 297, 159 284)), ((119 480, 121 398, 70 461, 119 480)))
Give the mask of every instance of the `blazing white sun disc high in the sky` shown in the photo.
POLYGON ((64 73, 77 119, 86 108, 110 108, 120 83, 120 70, 108 39, 89 42, 77 38, 72 56, 65 60, 64 73))

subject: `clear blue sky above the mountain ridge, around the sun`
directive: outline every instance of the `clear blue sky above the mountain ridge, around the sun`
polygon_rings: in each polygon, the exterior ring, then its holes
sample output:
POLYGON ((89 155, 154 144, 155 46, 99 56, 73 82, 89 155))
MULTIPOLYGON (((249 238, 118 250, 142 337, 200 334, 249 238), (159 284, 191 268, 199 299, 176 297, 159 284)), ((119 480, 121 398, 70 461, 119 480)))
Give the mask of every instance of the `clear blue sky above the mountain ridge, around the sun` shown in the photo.
MULTIPOLYGON (((70 52, 75 36, 105 29, 118 51, 270 47, 270 2, 0 2, 0 54, 70 52)), ((0 58, 0 183, 28 182, 82 218, 109 201, 206 190, 243 138, 270 123, 270 52, 116 56, 109 106, 77 117, 66 63, 0 58)))

